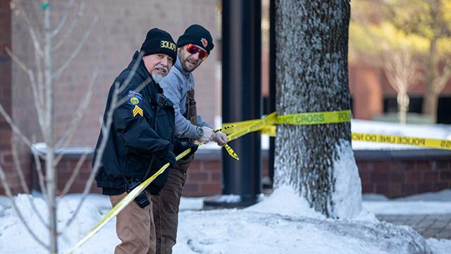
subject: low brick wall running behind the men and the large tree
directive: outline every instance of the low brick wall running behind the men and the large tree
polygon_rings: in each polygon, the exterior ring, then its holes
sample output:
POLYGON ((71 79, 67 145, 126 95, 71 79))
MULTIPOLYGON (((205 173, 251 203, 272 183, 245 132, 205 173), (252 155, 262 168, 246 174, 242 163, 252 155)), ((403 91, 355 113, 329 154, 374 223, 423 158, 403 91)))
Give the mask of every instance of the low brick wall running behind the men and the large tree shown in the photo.
MULTIPOLYGON (((378 193, 397 198, 416 193, 451 188, 451 152, 445 150, 354 151, 362 180, 363 193, 378 193)), ((262 173, 268 174, 267 152, 263 152, 262 173)), ((66 156, 58 165, 58 191, 68 181, 76 156, 66 156)), ((80 193, 91 171, 92 156, 83 164, 70 192, 80 193)), ((221 193, 222 169, 219 150, 199 150, 188 171, 183 190, 185 197, 202 197, 221 193)), ((37 176, 33 184, 37 188, 37 176)), ((39 189, 39 188, 37 188, 39 189)), ((92 193, 100 193, 95 186, 92 193)))

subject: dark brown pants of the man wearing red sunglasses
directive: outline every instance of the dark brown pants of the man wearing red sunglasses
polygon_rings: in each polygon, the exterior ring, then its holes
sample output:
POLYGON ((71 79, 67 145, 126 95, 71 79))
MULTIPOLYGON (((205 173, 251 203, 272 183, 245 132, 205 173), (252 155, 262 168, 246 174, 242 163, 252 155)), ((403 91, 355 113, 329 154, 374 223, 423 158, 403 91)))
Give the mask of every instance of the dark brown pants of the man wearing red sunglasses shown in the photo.
POLYGON ((152 195, 156 231, 156 253, 170 254, 177 239, 178 206, 185 186, 187 169, 194 155, 179 161, 169 170, 168 181, 160 195, 152 195))

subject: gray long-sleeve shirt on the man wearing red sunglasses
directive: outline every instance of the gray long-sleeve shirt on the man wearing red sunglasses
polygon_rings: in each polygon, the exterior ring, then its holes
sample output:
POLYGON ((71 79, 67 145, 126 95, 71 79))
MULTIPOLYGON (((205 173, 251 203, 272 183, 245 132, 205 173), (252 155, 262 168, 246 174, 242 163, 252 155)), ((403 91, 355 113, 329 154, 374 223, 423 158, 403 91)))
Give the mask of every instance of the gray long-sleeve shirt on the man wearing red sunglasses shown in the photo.
MULTIPOLYGON (((177 57, 177 61, 175 61, 175 65, 171 68, 169 74, 159 84, 163 88, 163 94, 171 99, 174 104, 175 136, 178 138, 197 138, 196 126, 185 119, 187 91, 194 89, 192 73, 185 71, 177 57)), ((197 114, 197 125, 209 126, 209 123, 197 114)))

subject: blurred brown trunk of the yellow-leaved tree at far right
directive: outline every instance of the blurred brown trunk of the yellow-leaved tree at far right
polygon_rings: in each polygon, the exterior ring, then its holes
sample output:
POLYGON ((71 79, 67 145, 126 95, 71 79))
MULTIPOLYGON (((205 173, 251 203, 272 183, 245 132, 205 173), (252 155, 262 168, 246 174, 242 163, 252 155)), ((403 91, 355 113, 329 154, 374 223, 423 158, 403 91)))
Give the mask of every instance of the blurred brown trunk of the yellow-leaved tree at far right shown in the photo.
POLYGON ((438 94, 434 89, 434 80, 438 75, 438 61, 437 61, 437 38, 431 40, 429 46, 428 63, 426 68, 426 92, 424 94, 423 114, 431 116, 433 123, 437 121, 437 104, 438 94))

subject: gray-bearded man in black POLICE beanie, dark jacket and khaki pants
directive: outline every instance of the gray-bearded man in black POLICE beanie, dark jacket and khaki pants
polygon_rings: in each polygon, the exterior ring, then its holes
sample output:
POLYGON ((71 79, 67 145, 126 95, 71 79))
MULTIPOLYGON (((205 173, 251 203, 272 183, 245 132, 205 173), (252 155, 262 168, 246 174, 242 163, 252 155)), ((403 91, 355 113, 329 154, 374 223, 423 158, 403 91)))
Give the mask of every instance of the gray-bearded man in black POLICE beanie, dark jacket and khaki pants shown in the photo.
MULTIPOLYGON (((102 131, 99 135, 93 162, 101 156, 97 186, 104 195, 110 196, 113 206, 164 164, 175 165, 174 109, 171 101, 164 97, 159 81, 168 75, 176 58, 171 35, 158 28, 151 29, 140 52, 135 52, 109 90, 104 124, 112 103, 122 103, 114 105, 108 135, 104 136, 102 131), (116 94, 118 96, 113 98, 116 94), (104 139, 104 152, 98 155, 104 139)), ((160 192, 168 170, 116 215, 116 233, 121 243, 115 253, 155 253, 150 195, 160 192)))

